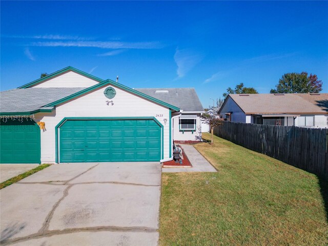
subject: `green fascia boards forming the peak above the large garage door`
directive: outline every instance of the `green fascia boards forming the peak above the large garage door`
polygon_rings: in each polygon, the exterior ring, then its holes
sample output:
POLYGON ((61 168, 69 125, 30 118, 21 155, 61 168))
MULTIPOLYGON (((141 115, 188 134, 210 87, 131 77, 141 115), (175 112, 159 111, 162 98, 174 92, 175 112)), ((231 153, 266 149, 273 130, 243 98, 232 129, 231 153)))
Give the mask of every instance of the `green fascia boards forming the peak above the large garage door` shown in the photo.
POLYGON ((83 94, 85 94, 85 93, 88 93, 88 92, 90 92, 90 91, 93 91, 93 90, 95 90, 95 89, 98 89, 98 88, 100 88, 100 87, 103 87, 103 86, 105 86, 105 85, 112 85, 112 86, 115 86, 115 87, 117 87, 117 88, 119 88, 119 89, 122 89, 122 90, 124 90, 124 91, 128 91, 128 92, 130 92, 130 93, 132 93, 132 94, 135 94, 135 95, 138 95, 138 96, 140 96, 140 97, 146 98, 146 99, 148 99, 148 100, 150 100, 150 101, 153 101, 153 102, 156 103, 156 104, 162 105, 162 106, 167 107, 167 108, 169 108, 169 109, 171 109, 171 110, 175 110, 175 111, 179 111, 179 110, 180 110, 178 107, 175 107, 175 106, 173 106, 173 105, 167 104, 167 103, 165 103, 164 101, 158 100, 158 99, 156 99, 156 98, 154 98, 154 97, 152 97, 152 96, 146 95, 146 94, 141 93, 141 92, 136 91, 136 90, 133 90, 133 89, 130 88, 130 87, 127 87, 127 86, 121 85, 121 84, 119 84, 119 83, 117 83, 117 82, 115 82, 115 81, 113 81, 113 80, 110 80, 110 79, 104 80, 104 81, 102 81, 101 83, 99 83, 99 84, 97 84, 97 85, 91 86, 91 87, 89 87, 89 88, 86 88, 86 89, 84 89, 84 90, 81 90, 81 91, 79 91, 79 92, 76 92, 76 93, 74 93, 74 94, 72 94, 72 95, 69 95, 69 96, 67 96, 67 97, 61 98, 61 99, 59 99, 59 100, 57 100, 57 101, 54 101, 53 103, 50 103, 50 104, 47 104, 47 105, 43 106, 43 107, 53 107, 53 106, 56 106, 56 105, 58 105, 58 104, 65 103, 65 102, 68 101, 68 100, 71 100, 71 99, 73 99, 73 98, 75 98, 75 97, 77 97, 77 96, 83 95, 83 94))

